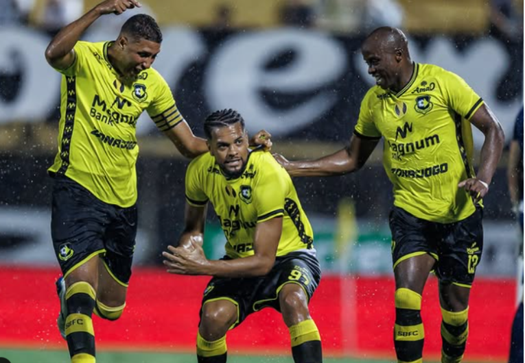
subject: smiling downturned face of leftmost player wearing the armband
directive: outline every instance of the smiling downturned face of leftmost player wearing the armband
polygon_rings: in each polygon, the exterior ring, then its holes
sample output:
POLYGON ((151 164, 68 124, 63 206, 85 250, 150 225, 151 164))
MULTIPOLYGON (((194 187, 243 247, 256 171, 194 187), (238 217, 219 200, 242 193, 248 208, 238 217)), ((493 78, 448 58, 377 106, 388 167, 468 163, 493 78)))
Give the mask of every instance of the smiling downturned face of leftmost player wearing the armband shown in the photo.
POLYGON ((124 79, 135 80, 137 75, 150 68, 156 55, 161 51, 161 44, 135 39, 131 36, 121 35, 113 45, 116 50, 116 68, 124 79))

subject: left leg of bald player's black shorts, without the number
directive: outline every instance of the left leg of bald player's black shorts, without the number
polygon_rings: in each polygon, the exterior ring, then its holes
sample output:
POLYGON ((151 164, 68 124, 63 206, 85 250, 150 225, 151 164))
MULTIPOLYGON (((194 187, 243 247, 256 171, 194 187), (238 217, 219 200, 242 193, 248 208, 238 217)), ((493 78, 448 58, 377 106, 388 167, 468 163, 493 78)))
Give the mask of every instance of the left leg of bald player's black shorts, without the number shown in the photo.
MULTIPOLYGON (((436 237, 432 224, 394 207, 388 218, 392 232, 393 268, 412 257, 428 254, 438 260, 436 237)), ((426 277, 425 277, 426 279, 426 277)))

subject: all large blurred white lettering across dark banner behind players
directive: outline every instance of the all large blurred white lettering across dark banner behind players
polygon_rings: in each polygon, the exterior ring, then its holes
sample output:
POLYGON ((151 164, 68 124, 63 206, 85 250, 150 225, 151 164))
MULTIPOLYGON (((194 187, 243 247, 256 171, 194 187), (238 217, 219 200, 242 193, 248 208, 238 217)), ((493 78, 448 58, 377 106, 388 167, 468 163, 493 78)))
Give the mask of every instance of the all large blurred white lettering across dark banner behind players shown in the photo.
MULTIPOLYGON (((250 120, 248 124, 253 125, 250 132, 265 128, 275 136, 283 136, 325 114, 338 97, 343 97, 327 88, 348 72, 351 61, 355 63, 360 78, 369 85, 373 84, 358 49, 355 49, 355 58, 348 60, 344 42, 327 34, 291 28, 237 33, 225 38, 213 53, 208 53, 205 41, 194 29, 166 27, 163 33, 163 52, 156 60, 155 68, 172 90, 176 89, 191 62, 206 58, 203 84, 194 87, 205 95, 209 110, 239 110, 250 120), (266 68, 272 60, 287 52, 294 55, 288 64, 266 68), (264 92, 275 92, 276 97, 312 97, 289 108, 277 109, 264 98, 264 92)), ((107 32, 94 32, 88 34, 87 39, 95 40, 97 36, 107 38, 108 35, 107 32)), ((0 76, 19 76, 14 98, 0 99, 0 123, 14 119, 43 120, 58 105, 60 97, 60 74, 44 58, 49 36, 23 27, 1 27, 0 37, 0 76)), ((417 62, 438 64, 463 77, 487 101, 507 136, 512 134, 513 121, 522 100, 502 102, 497 98, 497 86, 509 67, 509 53, 499 42, 474 40, 467 49, 458 51, 454 42, 441 37, 430 40, 424 49, 412 41, 410 52, 417 62)), ((359 105, 349 107, 358 108, 359 105)), ((141 116, 144 117, 149 118, 141 116)), ((140 121, 137 133, 145 134, 153 128, 150 120, 140 121)), ((482 145, 482 140, 482 134, 475 132, 476 147, 482 145)))

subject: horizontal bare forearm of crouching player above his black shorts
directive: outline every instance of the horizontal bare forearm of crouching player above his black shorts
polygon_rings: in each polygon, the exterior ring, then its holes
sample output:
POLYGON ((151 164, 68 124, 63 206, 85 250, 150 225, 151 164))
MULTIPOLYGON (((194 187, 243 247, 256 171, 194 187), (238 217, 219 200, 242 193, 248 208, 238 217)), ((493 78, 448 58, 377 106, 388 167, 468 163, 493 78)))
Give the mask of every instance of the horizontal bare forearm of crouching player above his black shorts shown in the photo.
POLYGON ((255 277, 270 272, 275 258, 263 258, 251 255, 234 260, 212 260, 204 267, 202 275, 216 277, 255 277))

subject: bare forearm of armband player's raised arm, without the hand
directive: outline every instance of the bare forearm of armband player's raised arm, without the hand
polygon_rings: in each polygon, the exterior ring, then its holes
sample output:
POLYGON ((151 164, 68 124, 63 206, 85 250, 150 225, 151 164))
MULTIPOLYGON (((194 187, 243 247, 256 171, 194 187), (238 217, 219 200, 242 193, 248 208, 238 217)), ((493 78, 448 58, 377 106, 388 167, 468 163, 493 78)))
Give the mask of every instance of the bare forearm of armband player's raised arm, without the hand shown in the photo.
POLYGON ((51 40, 45 51, 45 56, 49 62, 65 57, 78 42, 82 34, 89 25, 93 24, 100 17, 97 8, 86 12, 81 18, 63 27, 58 34, 51 40))

